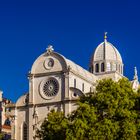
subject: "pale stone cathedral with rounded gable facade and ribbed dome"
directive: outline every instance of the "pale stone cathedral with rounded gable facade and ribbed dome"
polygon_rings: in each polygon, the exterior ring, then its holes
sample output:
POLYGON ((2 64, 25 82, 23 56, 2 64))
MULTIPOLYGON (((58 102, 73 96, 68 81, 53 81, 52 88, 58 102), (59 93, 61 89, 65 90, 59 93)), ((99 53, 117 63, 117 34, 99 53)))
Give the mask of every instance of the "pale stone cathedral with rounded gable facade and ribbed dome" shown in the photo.
MULTIPOLYGON (((79 96, 95 90, 98 80, 112 78, 118 81, 125 77, 123 67, 119 51, 107 41, 106 34, 104 41, 93 52, 89 70, 48 46, 29 72, 29 91, 12 106, 12 139, 37 140, 36 129, 52 109, 69 114, 77 108, 79 96)), ((135 68, 132 87, 137 90, 138 86, 135 68)))

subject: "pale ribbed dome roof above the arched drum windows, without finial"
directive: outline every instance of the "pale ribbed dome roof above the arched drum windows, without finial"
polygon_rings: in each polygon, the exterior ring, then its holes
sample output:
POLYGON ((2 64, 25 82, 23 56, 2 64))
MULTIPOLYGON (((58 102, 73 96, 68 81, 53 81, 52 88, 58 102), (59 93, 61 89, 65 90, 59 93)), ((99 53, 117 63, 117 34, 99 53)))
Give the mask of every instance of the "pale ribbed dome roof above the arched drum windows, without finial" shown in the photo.
POLYGON ((122 58, 118 50, 107 41, 98 45, 92 59, 92 61, 111 60, 122 63, 122 58))

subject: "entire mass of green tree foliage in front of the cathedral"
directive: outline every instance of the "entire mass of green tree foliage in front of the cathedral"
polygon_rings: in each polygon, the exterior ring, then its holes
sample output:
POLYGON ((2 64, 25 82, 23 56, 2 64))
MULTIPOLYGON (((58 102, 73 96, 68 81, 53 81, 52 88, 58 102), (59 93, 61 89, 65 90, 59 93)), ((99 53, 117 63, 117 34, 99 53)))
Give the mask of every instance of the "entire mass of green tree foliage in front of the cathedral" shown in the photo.
POLYGON ((65 117, 48 114, 37 136, 41 140, 137 140, 140 139, 140 90, 127 79, 98 82, 95 93, 82 96, 77 110, 65 117))

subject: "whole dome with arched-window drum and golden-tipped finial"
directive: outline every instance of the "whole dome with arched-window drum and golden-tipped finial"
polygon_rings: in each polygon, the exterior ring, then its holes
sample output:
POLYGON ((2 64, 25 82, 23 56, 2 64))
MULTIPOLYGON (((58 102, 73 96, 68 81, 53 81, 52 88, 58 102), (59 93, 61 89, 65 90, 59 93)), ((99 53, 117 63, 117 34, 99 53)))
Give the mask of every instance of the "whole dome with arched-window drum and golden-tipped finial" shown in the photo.
POLYGON ((118 72, 123 75, 122 57, 118 50, 107 41, 107 33, 105 33, 104 42, 95 49, 89 70, 97 75, 110 72, 118 72))

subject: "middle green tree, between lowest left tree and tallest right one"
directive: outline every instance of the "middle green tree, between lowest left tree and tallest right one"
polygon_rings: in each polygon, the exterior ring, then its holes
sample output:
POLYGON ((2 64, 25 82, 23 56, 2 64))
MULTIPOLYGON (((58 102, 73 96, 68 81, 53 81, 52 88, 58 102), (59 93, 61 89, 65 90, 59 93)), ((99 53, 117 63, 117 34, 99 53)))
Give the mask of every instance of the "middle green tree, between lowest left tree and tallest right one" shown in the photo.
POLYGON ((97 121, 96 110, 88 103, 80 103, 69 117, 69 126, 67 129, 67 140, 85 140, 91 135, 91 129, 94 131, 94 124, 97 121))

